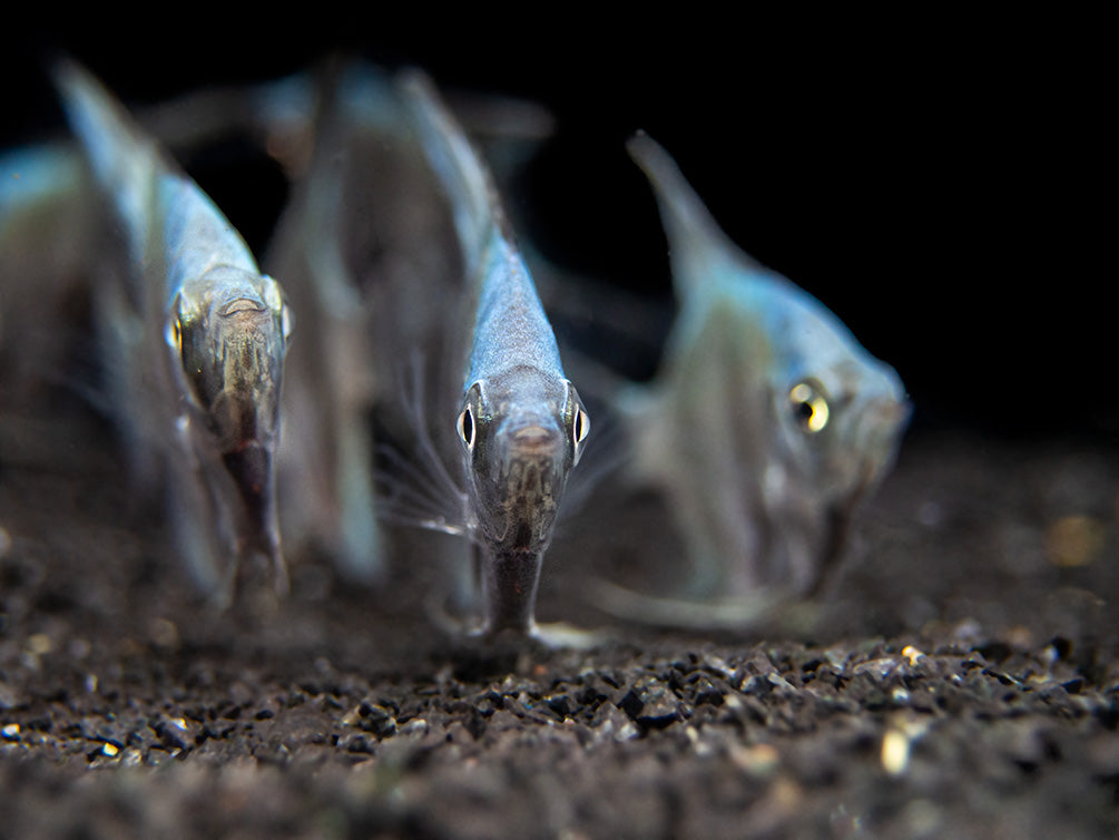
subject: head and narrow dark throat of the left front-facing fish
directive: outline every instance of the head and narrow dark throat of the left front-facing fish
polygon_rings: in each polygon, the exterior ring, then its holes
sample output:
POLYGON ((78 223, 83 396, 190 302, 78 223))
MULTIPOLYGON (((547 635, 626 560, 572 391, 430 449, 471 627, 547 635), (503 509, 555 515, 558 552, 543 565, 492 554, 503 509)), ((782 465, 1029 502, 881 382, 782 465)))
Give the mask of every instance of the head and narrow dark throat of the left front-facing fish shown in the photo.
POLYGON ((245 535, 274 542, 274 456, 291 314, 270 277, 211 269, 171 308, 167 342, 207 447, 244 503, 245 535))

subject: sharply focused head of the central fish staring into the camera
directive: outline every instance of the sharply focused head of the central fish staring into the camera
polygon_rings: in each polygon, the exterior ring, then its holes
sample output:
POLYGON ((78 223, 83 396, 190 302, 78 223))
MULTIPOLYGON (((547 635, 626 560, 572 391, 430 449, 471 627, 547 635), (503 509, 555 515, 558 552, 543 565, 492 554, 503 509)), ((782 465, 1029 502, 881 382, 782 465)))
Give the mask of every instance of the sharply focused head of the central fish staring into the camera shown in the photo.
POLYGON ((574 385, 521 366, 467 389, 457 429, 477 538, 492 552, 542 553, 590 418, 574 385))

